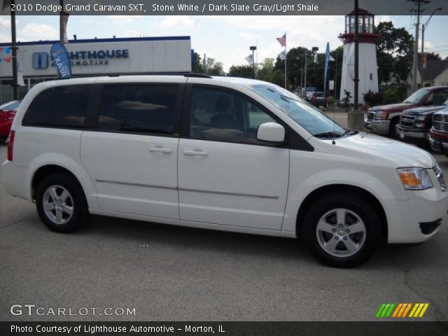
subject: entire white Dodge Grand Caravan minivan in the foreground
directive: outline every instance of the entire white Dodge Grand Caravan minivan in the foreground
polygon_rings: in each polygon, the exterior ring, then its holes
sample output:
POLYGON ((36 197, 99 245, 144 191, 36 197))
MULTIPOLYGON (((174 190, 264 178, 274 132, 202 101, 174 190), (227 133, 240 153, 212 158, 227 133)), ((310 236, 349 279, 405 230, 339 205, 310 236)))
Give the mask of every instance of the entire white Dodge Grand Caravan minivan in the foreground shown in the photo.
POLYGON ((58 232, 99 214, 301 237, 339 267, 383 238, 425 241, 448 209, 426 151, 346 130, 281 87, 241 78, 38 84, 15 117, 1 179, 58 232))

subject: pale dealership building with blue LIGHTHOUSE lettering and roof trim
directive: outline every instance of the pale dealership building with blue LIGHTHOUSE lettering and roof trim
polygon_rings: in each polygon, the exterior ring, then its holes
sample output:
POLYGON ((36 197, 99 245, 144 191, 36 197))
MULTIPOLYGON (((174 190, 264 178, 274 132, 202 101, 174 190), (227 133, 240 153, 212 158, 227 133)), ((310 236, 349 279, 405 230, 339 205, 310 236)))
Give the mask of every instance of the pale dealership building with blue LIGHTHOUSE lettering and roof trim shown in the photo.
MULTIPOLYGON (((37 83, 57 78, 54 43, 18 43, 20 99, 37 83)), ((73 77, 183 73, 192 67, 190 36, 74 39, 65 46, 73 77)), ((10 43, 0 43, 0 104, 13 99, 11 55, 10 43)))

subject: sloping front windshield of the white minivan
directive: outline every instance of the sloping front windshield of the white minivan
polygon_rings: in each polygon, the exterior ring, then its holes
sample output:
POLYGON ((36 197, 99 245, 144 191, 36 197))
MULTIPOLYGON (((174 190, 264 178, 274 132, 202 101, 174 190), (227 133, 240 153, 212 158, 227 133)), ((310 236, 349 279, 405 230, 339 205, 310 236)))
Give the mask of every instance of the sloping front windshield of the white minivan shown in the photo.
POLYGON ((347 134, 343 127, 333 123, 314 106, 279 86, 255 84, 247 87, 277 106, 313 136, 330 139, 347 134))

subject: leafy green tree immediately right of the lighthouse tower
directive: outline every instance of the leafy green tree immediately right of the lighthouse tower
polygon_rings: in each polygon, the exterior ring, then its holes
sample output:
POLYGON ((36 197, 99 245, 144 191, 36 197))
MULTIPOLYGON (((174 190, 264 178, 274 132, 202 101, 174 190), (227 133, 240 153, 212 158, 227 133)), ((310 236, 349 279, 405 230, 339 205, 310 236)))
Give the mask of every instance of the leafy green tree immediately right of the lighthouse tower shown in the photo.
POLYGON ((395 28, 393 23, 379 22, 376 27, 380 35, 377 41, 379 81, 405 81, 412 68, 414 37, 405 28, 395 28))

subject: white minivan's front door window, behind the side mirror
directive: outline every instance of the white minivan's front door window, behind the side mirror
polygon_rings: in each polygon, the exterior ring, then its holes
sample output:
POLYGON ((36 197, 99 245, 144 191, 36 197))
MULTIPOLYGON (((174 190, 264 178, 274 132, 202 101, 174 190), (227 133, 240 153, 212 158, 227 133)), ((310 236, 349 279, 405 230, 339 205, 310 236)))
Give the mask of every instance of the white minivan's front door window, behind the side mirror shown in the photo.
POLYGON ((257 140, 258 126, 263 123, 276 121, 238 94, 206 87, 193 89, 190 113, 193 139, 265 144, 257 140))

